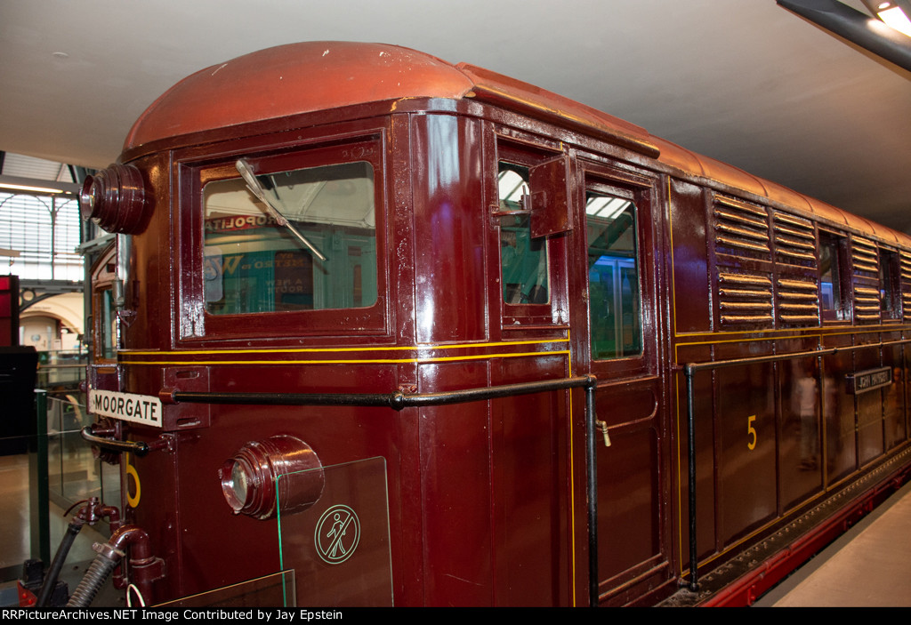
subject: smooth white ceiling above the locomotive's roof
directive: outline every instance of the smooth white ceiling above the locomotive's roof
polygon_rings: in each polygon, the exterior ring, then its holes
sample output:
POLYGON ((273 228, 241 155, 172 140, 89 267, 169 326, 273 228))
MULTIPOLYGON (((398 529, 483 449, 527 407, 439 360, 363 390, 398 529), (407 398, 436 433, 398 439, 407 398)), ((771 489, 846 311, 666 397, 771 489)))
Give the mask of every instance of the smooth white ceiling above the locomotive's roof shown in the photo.
POLYGON ((107 166, 183 76, 306 40, 484 66, 911 232, 911 73, 774 0, 0 0, 0 150, 107 166))

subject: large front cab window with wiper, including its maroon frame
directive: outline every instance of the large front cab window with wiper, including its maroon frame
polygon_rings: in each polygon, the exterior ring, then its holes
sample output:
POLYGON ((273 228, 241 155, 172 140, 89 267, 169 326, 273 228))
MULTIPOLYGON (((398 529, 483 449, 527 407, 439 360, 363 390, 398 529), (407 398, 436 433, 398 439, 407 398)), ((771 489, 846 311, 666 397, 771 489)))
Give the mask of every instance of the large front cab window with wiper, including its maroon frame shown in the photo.
POLYGON ((383 329, 382 154, 364 140, 190 164, 184 336, 383 329))

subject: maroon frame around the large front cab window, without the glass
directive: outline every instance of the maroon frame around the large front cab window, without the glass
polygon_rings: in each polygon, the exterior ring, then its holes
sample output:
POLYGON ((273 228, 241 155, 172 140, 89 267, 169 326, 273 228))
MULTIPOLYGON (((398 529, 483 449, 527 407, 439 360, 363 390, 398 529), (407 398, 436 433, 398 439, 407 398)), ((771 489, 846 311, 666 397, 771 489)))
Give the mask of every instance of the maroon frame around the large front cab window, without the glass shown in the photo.
MULTIPOLYGON (((296 137, 300 138, 300 137, 296 137)), ((220 341, 239 338, 279 338, 337 335, 387 335, 388 203, 386 138, 382 129, 344 136, 314 138, 281 144, 275 140, 259 146, 236 141, 218 146, 214 156, 188 150, 177 155, 179 219, 174 245, 179 253, 179 341, 220 341), (232 145, 232 144, 236 144, 232 145), (213 314, 207 311, 203 272, 205 267, 206 184, 239 177, 234 162, 244 158, 254 171, 291 171, 316 166, 367 162, 374 170, 374 232, 376 248, 376 300, 367 307, 324 308, 259 313, 213 314)), ((213 152, 209 151, 210 154, 213 152)))

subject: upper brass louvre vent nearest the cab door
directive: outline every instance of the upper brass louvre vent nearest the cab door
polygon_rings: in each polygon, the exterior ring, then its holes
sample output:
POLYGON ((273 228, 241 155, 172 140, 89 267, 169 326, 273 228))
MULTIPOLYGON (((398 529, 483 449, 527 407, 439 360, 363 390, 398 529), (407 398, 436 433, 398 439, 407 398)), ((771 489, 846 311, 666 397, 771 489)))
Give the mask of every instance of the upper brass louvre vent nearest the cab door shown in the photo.
POLYGON ((719 253, 771 260, 768 215, 729 197, 715 198, 715 248, 719 253))

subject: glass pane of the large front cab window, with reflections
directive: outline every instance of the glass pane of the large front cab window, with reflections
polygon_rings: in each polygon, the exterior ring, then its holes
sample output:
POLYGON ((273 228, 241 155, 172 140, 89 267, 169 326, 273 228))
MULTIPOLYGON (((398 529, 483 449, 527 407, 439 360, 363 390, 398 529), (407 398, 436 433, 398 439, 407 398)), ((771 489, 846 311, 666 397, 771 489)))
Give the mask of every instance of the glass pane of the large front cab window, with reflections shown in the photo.
POLYGON ((240 177, 203 188, 206 309, 212 315, 367 307, 376 302, 369 163, 257 176, 270 203, 326 257, 272 217, 240 177))

